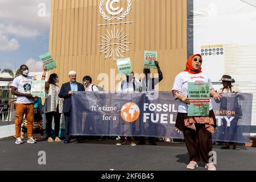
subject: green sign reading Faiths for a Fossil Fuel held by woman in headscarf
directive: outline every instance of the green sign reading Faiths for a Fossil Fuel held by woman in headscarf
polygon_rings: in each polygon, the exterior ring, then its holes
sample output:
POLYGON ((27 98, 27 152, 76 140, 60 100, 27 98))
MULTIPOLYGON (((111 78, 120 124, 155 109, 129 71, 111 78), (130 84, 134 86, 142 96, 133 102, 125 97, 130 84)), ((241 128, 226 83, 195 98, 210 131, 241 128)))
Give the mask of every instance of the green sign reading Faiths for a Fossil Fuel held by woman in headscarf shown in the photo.
POLYGON ((188 116, 209 115, 210 89, 209 83, 188 83, 188 116))

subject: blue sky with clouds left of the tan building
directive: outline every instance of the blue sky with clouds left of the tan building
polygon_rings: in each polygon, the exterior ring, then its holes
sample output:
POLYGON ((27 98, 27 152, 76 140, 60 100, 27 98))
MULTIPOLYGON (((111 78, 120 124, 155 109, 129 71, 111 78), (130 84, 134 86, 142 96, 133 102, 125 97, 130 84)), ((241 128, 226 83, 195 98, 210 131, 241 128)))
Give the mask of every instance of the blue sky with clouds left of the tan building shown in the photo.
POLYGON ((0 0, 0 69, 27 64, 42 71, 48 52, 51 0, 0 0))

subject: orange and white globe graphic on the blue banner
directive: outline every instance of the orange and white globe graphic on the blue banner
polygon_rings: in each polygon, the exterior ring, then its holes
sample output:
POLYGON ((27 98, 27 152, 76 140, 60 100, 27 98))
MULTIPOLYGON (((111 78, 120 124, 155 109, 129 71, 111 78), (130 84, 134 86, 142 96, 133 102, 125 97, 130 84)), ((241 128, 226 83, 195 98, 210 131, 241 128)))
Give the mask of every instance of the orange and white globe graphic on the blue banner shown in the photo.
POLYGON ((134 122, 139 118, 139 106, 133 102, 128 102, 122 106, 121 116, 126 122, 134 122))

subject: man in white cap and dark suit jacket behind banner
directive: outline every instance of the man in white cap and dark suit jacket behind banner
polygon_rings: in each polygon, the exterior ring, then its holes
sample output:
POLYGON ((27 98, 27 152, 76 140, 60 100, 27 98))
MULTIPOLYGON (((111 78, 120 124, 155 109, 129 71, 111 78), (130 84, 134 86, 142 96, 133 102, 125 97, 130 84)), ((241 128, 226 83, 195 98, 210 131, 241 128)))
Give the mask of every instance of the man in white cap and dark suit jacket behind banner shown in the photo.
MULTIPOLYGON (((65 140, 64 143, 69 143, 71 136, 69 135, 69 119, 70 119, 70 109, 71 109, 71 96, 73 92, 85 91, 84 85, 76 82, 76 72, 70 71, 68 73, 69 82, 63 84, 60 89, 59 97, 64 98, 63 103, 63 113, 65 117, 65 140)), ((81 137, 77 137, 79 143, 81 143, 81 137)))

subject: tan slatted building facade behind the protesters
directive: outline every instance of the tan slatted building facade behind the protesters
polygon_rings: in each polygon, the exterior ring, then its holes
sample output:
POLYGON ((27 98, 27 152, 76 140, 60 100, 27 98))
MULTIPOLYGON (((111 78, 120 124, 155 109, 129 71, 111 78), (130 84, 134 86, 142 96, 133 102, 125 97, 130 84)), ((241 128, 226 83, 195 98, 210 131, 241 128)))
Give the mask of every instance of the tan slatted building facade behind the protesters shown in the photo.
POLYGON ((177 73, 185 69, 187 0, 51 2, 49 52, 57 68, 50 73, 59 75, 60 84, 75 70, 77 81, 89 75, 94 84, 115 90, 119 80, 114 58, 130 57, 134 73, 141 74, 144 50, 158 52, 164 77, 159 90, 171 90, 177 73))

